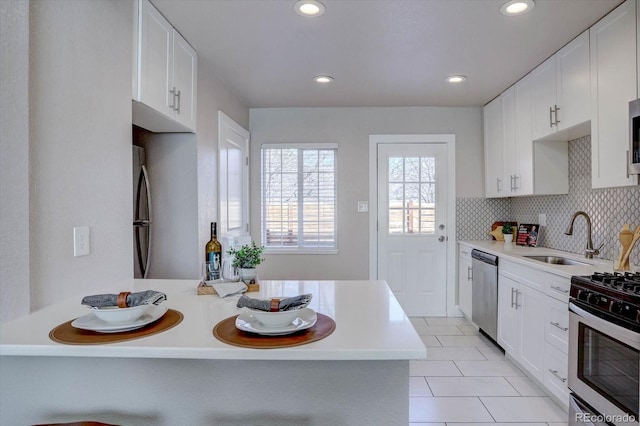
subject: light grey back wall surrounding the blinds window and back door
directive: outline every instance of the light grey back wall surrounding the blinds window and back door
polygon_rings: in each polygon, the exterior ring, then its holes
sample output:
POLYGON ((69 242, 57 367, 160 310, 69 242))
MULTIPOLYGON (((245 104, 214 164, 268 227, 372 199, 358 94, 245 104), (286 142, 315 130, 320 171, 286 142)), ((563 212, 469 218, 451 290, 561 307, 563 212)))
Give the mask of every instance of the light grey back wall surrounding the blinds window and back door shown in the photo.
MULTIPOLYGON (((368 200, 371 134, 456 135, 457 196, 483 196, 482 108, 273 108, 252 109, 251 228, 260 241, 260 145, 336 142, 338 147, 337 255, 266 255, 263 279, 367 279, 369 222, 356 202, 368 200)), ((369 206, 373 208, 374 206, 369 206)))

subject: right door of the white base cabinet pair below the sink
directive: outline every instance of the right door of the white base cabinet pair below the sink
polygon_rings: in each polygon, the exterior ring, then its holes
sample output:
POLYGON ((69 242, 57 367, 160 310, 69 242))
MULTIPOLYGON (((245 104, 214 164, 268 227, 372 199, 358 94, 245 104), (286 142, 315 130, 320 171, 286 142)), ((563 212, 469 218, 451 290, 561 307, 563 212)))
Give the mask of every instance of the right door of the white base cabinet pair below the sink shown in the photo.
POLYGON ((523 367, 538 380, 543 380, 544 322, 547 296, 526 285, 519 285, 516 309, 520 315, 520 356, 523 367))

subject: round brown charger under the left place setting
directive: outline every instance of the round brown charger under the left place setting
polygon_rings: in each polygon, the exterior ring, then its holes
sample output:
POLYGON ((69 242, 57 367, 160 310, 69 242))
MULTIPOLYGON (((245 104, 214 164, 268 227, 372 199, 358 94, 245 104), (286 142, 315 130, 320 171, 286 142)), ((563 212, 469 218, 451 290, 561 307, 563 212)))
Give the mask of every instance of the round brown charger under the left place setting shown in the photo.
POLYGON ((140 339, 162 333, 180 324, 183 318, 184 315, 182 315, 181 312, 169 309, 166 314, 151 324, 120 333, 98 333, 96 331, 75 328, 71 325, 75 320, 73 319, 51 330, 51 332, 49 332, 49 338, 54 342, 65 345, 101 345, 105 343, 126 342, 128 340, 140 339))

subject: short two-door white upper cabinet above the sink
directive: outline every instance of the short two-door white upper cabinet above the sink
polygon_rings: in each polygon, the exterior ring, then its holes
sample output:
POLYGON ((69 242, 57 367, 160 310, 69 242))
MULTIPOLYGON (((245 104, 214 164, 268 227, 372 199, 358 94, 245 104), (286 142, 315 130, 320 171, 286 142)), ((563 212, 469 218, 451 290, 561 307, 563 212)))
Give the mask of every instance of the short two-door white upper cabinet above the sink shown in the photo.
POLYGON ((589 134, 589 69, 587 30, 531 72, 533 140, 589 134))

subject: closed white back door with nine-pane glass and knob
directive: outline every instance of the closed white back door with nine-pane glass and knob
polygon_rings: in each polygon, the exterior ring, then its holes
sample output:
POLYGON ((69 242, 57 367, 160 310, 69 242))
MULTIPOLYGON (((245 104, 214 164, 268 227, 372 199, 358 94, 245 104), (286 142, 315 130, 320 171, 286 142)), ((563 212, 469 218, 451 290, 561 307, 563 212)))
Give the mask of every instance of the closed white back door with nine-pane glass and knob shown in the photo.
POLYGON ((378 145, 378 279, 407 315, 447 313, 447 145, 378 145))

